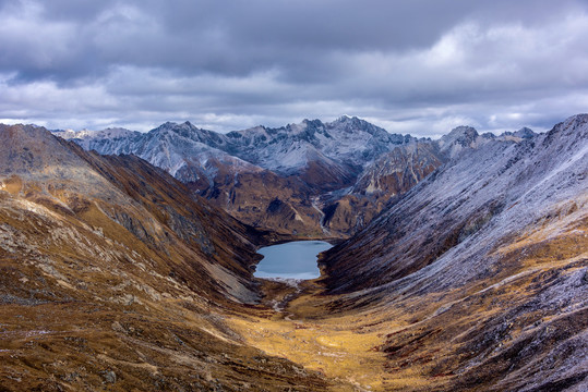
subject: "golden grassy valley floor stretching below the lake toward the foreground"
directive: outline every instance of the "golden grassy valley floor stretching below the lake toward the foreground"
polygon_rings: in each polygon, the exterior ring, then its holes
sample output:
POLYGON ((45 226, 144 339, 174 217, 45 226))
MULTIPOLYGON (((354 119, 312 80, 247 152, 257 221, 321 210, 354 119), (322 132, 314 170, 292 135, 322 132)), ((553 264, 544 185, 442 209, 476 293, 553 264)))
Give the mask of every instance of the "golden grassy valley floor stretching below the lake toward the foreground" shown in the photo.
POLYGON ((263 291, 268 310, 230 322, 249 344, 323 373, 334 391, 383 387, 382 334, 365 329, 373 320, 370 313, 329 315, 333 297, 321 295, 313 281, 264 280, 263 291))

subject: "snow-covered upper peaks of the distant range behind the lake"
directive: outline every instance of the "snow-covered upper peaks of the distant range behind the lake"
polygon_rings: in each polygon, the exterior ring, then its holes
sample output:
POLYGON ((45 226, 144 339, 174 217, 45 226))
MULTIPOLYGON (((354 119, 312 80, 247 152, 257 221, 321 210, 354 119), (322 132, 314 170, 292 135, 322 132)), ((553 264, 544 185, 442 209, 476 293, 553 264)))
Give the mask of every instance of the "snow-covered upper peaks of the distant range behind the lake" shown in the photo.
MULTIPOLYGON (((363 120, 348 117, 331 123, 304 120, 279 128, 256 126, 228 134, 202 130, 190 122, 167 122, 146 134, 122 128, 53 133, 100 154, 137 155, 172 174, 176 174, 175 168, 188 164, 187 158, 202 154, 207 158, 197 160, 201 166, 205 166, 209 158, 236 166, 241 160, 280 174, 291 174, 309 162, 319 161, 358 171, 395 146, 416 140, 409 135, 389 134, 363 120)), ((252 169, 242 162, 241 167, 252 169)))

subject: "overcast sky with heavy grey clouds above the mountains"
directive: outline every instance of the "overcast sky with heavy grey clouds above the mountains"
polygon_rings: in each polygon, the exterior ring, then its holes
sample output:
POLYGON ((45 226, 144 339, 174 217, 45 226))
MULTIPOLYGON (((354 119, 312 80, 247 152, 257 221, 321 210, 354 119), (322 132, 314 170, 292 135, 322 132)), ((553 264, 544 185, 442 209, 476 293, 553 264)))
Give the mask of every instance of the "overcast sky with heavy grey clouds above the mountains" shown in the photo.
POLYGON ((588 112, 588 0, 0 0, 0 122, 437 137, 588 112))

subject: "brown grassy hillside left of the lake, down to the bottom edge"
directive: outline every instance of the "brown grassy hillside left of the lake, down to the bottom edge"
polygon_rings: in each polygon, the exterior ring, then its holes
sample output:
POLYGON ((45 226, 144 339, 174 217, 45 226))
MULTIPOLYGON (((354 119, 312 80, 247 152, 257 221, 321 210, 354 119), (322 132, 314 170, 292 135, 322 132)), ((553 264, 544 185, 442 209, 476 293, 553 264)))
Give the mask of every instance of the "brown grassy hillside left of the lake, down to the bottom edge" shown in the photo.
POLYGON ((0 143, 1 390, 328 385, 225 321, 255 309, 260 233, 136 157, 33 126, 0 143))

